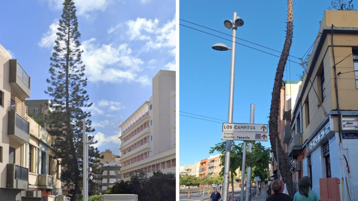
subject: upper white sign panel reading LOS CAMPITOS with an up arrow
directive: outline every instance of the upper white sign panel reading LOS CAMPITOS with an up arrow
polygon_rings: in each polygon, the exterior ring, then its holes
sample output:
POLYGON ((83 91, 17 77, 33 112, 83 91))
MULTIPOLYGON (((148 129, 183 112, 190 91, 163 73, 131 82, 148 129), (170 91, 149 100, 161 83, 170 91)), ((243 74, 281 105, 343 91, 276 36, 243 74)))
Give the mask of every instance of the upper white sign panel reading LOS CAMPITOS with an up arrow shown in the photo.
POLYGON ((267 124, 253 124, 253 123, 223 123, 223 131, 237 131, 237 132, 266 132, 267 124))

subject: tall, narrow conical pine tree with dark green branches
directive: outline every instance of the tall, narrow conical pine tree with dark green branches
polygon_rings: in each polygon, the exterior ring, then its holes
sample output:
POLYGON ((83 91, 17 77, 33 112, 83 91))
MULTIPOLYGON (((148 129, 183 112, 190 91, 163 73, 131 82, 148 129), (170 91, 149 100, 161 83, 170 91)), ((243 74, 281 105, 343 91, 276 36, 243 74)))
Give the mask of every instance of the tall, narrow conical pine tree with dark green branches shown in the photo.
MULTIPOLYGON (((55 137, 56 157, 62 158, 61 180, 71 190, 72 201, 82 190, 83 134, 82 120, 86 119, 86 132, 91 128, 91 112, 83 111, 90 107, 85 90, 87 78, 84 76, 85 65, 82 63, 76 7, 73 0, 64 0, 61 19, 57 29, 54 51, 50 58, 49 86, 45 93, 52 97, 49 133, 55 137)), ((99 157, 97 148, 89 148, 89 157, 99 157)), ((93 186, 93 185, 91 185, 93 186)))

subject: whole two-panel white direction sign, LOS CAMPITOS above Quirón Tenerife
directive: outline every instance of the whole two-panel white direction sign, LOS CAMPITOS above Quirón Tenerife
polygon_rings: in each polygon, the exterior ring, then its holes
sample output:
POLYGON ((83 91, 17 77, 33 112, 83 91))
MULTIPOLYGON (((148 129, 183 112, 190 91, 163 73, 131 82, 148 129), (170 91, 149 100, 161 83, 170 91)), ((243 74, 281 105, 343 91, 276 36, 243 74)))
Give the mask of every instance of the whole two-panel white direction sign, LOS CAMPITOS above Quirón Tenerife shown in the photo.
POLYGON ((223 140, 268 141, 267 124, 223 123, 223 140))

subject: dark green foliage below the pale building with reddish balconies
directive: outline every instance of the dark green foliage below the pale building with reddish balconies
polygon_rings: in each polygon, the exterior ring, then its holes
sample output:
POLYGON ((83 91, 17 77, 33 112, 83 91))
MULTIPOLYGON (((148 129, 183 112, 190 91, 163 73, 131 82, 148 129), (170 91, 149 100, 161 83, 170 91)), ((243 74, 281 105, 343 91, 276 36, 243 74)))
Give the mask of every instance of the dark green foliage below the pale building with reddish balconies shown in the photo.
POLYGON ((175 175, 153 172, 146 178, 145 173, 133 175, 129 181, 115 183, 106 194, 136 194, 140 201, 175 200, 175 175))

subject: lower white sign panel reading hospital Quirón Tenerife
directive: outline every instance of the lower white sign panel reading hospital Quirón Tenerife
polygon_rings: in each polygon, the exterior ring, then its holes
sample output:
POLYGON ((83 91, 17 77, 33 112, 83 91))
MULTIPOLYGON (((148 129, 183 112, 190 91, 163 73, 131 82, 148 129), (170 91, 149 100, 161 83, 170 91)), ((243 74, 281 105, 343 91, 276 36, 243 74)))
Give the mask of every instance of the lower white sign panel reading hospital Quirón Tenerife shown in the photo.
POLYGON ((237 132, 237 131, 223 131, 222 140, 242 140, 242 141, 268 141, 268 134, 266 132, 237 132))

